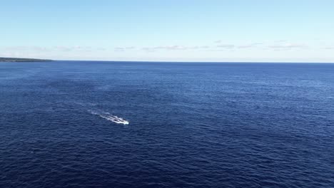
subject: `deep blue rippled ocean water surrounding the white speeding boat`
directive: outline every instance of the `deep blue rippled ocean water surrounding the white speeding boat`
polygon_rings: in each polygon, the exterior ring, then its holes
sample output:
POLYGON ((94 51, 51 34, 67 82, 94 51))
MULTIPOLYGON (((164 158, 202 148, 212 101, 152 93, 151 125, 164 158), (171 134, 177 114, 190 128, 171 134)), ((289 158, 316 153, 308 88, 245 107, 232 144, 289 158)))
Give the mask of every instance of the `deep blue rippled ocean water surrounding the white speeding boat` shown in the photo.
POLYGON ((0 63, 0 115, 0 187, 334 187, 334 64, 0 63))

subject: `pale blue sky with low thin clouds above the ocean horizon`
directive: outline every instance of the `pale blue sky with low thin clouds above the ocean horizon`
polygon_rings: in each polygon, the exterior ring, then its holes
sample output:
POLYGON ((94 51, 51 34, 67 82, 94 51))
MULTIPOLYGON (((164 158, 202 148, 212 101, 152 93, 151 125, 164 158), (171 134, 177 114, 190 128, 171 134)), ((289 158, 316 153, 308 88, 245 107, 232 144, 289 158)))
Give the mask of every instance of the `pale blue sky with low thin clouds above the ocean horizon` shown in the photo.
POLYGON ((334 62, 333 0, 0 0, 0 56, 334 62))

